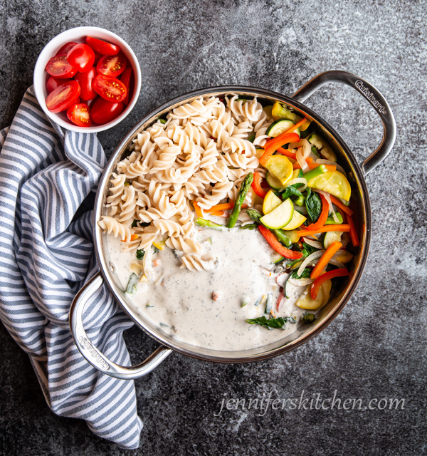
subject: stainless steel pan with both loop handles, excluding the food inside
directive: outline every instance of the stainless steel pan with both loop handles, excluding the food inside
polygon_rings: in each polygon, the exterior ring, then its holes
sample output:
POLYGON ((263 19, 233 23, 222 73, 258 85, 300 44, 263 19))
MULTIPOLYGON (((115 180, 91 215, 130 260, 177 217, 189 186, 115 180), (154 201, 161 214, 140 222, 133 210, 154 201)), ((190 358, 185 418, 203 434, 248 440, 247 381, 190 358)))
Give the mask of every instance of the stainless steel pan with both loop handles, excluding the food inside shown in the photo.
POLYGON ((302 86, 300 90, 297 90, 292 97, 275 93, 271 90, 263 90, 260 88, 245 87, 245 86, 222 86, 222 87, 211 87, 204 88, 201 90, 194 90, 194 92, 186 93, 179 97, 170 100, 167 103, 159 106, 142 120, 135 125, 132 130, 123 138, 122 142, 117 146, 114 154, 112 155, 110 162, 105 169, 100 185, 97 191, 97 198, 95 202, 94 210, 94 244, 95 253, 98 264, 100 265, 100 271, 91 279, 88 284, 78 292, 77 296, 73 301, 70 309, 70 330, 73 333, 80 353, 85 359, 92 364, 99 371, 111 375, 115 378, 132 379, 138 378, 152 371, 164 358, 166 358, 172 351, 183 353, 184 355, 197 358, 204 361, 214 361, 217 363, 246 363, 249 361, 258 361, 266 358, 272 358, 280 354, 286 353, 287 351, 300 346, 305 343, 315 334, 320 333, 331 321, 339 314, 344 308, 347 301, 349 301, 357 284, 359 283, 360 277, 364 270, 364 266, 367 261, 369 242, 371 239, 371 207, 369 204, 369 196, 367 192, 367 185, 364 180, 364 176, 368 172, 374 169, 382 160, 389 154, 391 148, 394 145, 396 138, 396 124, 394 121, 393 113, 389 104, 379 90, 376 90, 374 86, 371 86, 367 81, 362 78, 354 76, 351 73, 344 71, 327 71, 320 75, 312 78, 311 81, 307 82, 305 86, 302 86), (381 118, 381 122, 384 127, 384 135, 379 147, 367 157, 367 159, 359 165, 357 163, 352 151, 339 136, 339 134, 324 120, 320 115, 313 112, 310 108, 307 108, 302 102, 314 93, 318 88, 324 86, 327 83, 337 82, 347 84, 361 93, 364 98, 369 100, 369 103, 374 107, 376 112, 381 118), (349 265, 351 271, 350 279, 346 286, 343 286, 341 290, 331 299, 329 304, 325 306, 319 314, 317 314, 317 320, 311 326, 302 325, 297 328, 295 333, 290 336, 283 338, 275 343, 270 343, 267 346, 253 348, 246 351, 214 351, 207 348, 201 348, 176 341, 176 339, 169 336, 167 333, 162 331, 162 328, 154 325, 151 321, 141 314, 136 306, 132 304, 132 301, 128 300, 125 293, 122 291, 122 286, 117 279, 114 272, 114 267, 110 264, 109 253, 106 246, 106 235, 102 234, 102 230, 95 223, 100 216, 103 214, 104 202, 108 193, 108 183, 110 175, 115 170, 117 162, 120 161, 123 152, 127 150, 127 147, 131 144, 132 139, 135 135, 151 125, 155 118, 159 115, 169 112, 178 105, 183 103, 190 103, 195 98, 206 96, 206 95, 223 95, 228 93, 239 93, 241 95, 257 96, 258 98, 268 98, 272 101, 280 101, 287 105, 292 106, 295 112, 300 113, 303 117, 307 117, 312 120, 312 125, 315 130, 321 133, 334 148, 337 153, 338 162, 344 167, 349 175, 350 182, 352 183, 352 195, 357 201, 357 212, 358 212, 358 232, 361 238, 359 252, 354 256, 352 264, 349 265), (91 343, 88 335, 85 333, 82 323, 82 314, 85 308, 85 304, 90 296, 102 285, 106 283, 115 299, 119 301, 120 305, 127 312, 137 325, 142 328, 149 336, 159 341, 161 344, 149 358, 138 366, 125 367, 118 366, 115 363, 109 361, 100 351, 97 350, 93 343, 91 343))

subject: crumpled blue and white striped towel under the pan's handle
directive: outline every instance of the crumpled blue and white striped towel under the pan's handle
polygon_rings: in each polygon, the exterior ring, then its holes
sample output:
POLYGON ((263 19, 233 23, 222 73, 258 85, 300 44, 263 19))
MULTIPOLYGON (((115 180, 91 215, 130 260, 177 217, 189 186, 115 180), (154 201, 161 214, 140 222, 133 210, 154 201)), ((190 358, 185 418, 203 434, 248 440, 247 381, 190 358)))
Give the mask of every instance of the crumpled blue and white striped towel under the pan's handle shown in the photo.
MULTIPOLYGON (((96 435, 137 448, 134 382, 90 366, 68 327, 71 301, 98 269, 91 212, 73 216, 100 179, 104 151, 95 134, 64 133, 48 120, 32 87, 0 138, 1 321, 28 353, 53 412, 83 418, 96 435)), ((122 333, 133 323, 105 286, 83 323, 102 353, 130 366, 122 333)))

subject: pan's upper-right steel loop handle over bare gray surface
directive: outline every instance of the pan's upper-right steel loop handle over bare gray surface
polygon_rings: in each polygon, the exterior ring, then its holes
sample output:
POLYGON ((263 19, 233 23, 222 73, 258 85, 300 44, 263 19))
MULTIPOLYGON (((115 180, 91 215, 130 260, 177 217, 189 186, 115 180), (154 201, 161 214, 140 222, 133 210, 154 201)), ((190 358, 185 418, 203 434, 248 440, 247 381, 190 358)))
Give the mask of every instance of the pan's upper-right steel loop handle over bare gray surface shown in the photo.
POLYGON ((307 99, 312 93, 325 86, 327 83, 342 83, 347 84, 362 93, 364 98, 366 98, 372 106, 374 106, 376 112, 381 118, 381 122, 384 128, 383 138, 381 144, 376 147, 376 150, 367 157, 363 162, 362 172, 366 176, 368 172, 378 166, 384 158, 389 155, 391 148, 394 145, 396 140, 396 122, 394 120, 394 115, 391 112, 389 103, 386 102, 386 99, 383 95, 377 90, 374 86, 369 84, 364 79, 355 76, 352 73, 347 73, 347 71, 326 71, 325 73, 320 73, 314 78, 310 79, 304 86, 297 90, 292 98, 295 100, 303 102, 307 99))

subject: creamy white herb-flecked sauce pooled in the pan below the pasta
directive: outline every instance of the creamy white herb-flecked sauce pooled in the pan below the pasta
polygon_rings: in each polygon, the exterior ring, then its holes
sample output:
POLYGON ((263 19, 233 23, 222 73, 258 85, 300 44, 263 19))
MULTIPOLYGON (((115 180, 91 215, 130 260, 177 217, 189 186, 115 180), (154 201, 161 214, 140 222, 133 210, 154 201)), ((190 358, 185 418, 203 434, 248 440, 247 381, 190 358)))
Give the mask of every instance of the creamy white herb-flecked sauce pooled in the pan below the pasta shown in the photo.
MULTIPOLYGON (((280 287, 275 281, 278 274, 273 249, 258 230, 231 229, 218 232, 199 229, 199 242, 205 252, 202 257, 214 257, 211 271, 180 269, 181 261, 168 247, 153 255, 159 265, 154 267, 154 284, 139 282, 132 299, 141 314, 160 326, 174 338, 194 346, 220 351, 240 351, 278 341, 293 333, 297 324, 286 323, 285 330, 269 330, 258 324, 249 324, 246 318, 265 314, 265 302, 255 306, 261 296, 273 294, 275 316, 293 316, 296 321, 305 313, 295 301, 305 287, 295 286, 295 295, 287 299, 280 312, 276 301, 280 287), (211 243, 210 243, 211 242, 211 243), (212 299, 216 292, 218 301, 212 299), (246 306, 241 306, 247 300, 246 306)), ((107 236, 107 248, 122 289, 126 288, 135 254, 122 253, 122 243, 107 236)), ((142 261, 139 261, 142 265, 142 261)))

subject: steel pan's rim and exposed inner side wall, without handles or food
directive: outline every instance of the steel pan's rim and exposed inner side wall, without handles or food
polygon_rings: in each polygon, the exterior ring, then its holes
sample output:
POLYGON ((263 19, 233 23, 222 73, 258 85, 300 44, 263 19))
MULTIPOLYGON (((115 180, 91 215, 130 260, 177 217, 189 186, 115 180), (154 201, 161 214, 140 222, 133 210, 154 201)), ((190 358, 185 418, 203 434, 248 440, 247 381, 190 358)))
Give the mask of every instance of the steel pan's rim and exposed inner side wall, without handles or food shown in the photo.
POLYGON ((152 113, 149 113, 141 121, 139 121, 139 123, 137 123, 137 125, 135 125, 135 127, 132 128, 132 130, 130 130, 130 132, 125 136, 122 142, 120 142, 120 145, 117 146, 117 149, 113 153, 110 162, 107 165, 97 193, 94 217, 95 252, 97 254, 97 260, 100 264, 102 276, 105 281, 107 281, 107 284, 115 298, 120 302, 127 314, 145 332, 165 346, 169 346, 169 348, 179 351, 180 353, 184 353, 187 356, 223 363, 246 362, 254 361, 256 359, 270 358, 299 346, 301 343, 307 341, 311 336, 322 331, 322 329, 325 328, 337 316, 337 314, 339 314, 339 311, 343 309, 344 305, 347 304, 347 301, 357 286, 367 259, 371 227, 369 197, 367 195, 367 188, 362 176, 362 171, 360 170, 354 155, 338 133, 335 132, 325 120, 320 118, 319 115, 310 110, 310 108, 305 107, 302 103, 292 100, 292 98, 280 95, 279 93, 271 92, 270 90, 254 89, 242 86, 207 88, 203 90, 196 90, 193 93, 186 95, 181 95, 180 97, 171 100, 169 103, 164 103, 164 105, 159 106, 159 108, 152 111, 152 113), (342 286, 341 289, 338 289, 335 294, 331 296, 329 303, 317 313, 317 320, 311 324, 299 325, 294 333, 290 334, 288 337, 280 339, 280 341, 258 348, 251 348, 245 351, 216 351, 209 348, 201 348, 199 346, 190 345, 189 343, 177 340, 173 336, 169 336, 169 334, 162 331, 162 328, 154 325, 152 321, 139 311, 138 307, 135 306, 130 299, 127 299, 125 293, 123 293, 122 284, 120 284, 120 281, 115 274, 115 270, 112 267, 112 262, 110 261, 110 253, 107 246, 107 235, 103 234, 102 230, 95 223, 96 220, 100 219, 101 215, 105 214, 104 202, 108 195, 108 182, 110 181, 110 176, 115 170, 117 162, 122 159, 122 155, 126 152, 137 133, 149 127, 149 125, 152 125, 157 117, 167 114, 170 110, 183 103, 191 103, 191 101, 201 96, 205 98, 209 96, 223 96, 230 94, 236 94, 239 95, 239 97, 242 96, 247 98, 256 96, 258 100, 260 100, 262 104, 265 103, 265 105, 268 103, 273 104, 275 101, 279 101, 280 103, 288 105, 288 107, 294 110, 298 115, 312 120, 310 130, 312 129, 316 133, 320 133, 330 143, 337 154, 337 161, 339 165, 344 167, 344 170, 347 172, 349 182, 352 185, 352 197, 356 200, 357 224, 360 234, 359 252, 354 255, 352 262, 347 264, 350 271, 350 279, 346 285, 342 286))

